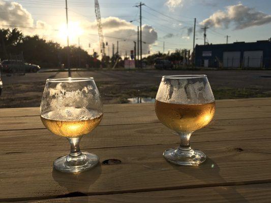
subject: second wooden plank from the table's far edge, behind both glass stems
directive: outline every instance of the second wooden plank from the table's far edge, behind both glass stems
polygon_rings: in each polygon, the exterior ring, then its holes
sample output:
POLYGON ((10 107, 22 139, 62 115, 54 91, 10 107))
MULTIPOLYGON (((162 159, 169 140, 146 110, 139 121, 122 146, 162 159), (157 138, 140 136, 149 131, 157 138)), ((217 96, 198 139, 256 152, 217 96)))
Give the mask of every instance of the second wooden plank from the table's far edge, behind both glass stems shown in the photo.
MULTIPOLYGON (((271 117, 271 106, 218 108, 214 120, 268 118, 271 117)), ((105 113, 100 123, 103 125, 158 123, 154 111, 105 113), (116 119, 117 118, 117 119, 116 119)), ((39 116, 0 118, 0 130, 40 129, 45 128, 39 116)))

